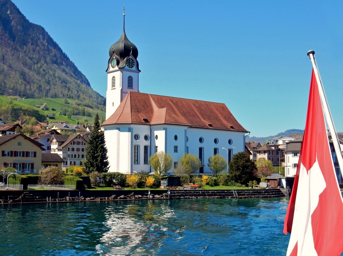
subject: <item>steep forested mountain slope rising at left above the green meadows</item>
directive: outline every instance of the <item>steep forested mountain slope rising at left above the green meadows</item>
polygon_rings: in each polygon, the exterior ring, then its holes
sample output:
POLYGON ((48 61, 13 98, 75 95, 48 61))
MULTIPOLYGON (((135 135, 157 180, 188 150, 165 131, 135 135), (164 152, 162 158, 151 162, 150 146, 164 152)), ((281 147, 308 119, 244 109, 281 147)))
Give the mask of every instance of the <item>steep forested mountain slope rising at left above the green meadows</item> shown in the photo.
POLYGON ((69 98, 93 108, 105 103, 45 29, 10 0, 0 0, 0 93, 69 98))

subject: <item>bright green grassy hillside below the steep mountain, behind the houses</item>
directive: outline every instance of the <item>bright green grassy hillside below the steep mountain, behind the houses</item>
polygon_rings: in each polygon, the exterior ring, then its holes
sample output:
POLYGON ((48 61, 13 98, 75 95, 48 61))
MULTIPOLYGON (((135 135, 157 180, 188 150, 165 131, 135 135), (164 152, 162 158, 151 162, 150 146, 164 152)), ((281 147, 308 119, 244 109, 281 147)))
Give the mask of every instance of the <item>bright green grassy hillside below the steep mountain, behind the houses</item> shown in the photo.
POLYGON ((44 116, 55 114, 55 119, 45 120, 49 122, 67 121, 70 124, 77 124, 78 122, 82 124, 84 118, 87 118, 88 123, 92 124, 94 121, 94 116, 97 112, 99 113, 100 120, 105 120, 105 112, 103 110, 84 107, 82 106, 82 102, 77 100, 68 99, 67 102, 68 103, 65 103, 65 99, 61 98, 19 99, 16 97, 6 97, 0 95, 0 117, 7 121, 16 121, 18 113, 14 113, 13 109, 25 109, 36 110, 39 112, 39 114, 44 116), (44 103, 46 103, 46 107, 49 108, 49 110, 42 110, 34 106, 43 105, 44 103), (55 108, 56 111, 52 111, 51 108, 55 108), (61 113, 63 110, 72 113, 70 119, 65 114, 61 113))

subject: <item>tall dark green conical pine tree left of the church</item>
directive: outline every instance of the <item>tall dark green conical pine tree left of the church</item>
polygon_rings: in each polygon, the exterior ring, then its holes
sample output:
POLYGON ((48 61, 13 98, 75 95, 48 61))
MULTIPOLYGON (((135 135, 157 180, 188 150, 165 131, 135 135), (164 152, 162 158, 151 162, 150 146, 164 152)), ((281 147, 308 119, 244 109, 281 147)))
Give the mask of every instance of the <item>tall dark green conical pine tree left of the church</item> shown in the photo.
POLYGON ((85 173, 108 171, 108 156, 104 133, 100 131, 99 115, 96 113, 91 137, 88 140, 85 158, 85 173))

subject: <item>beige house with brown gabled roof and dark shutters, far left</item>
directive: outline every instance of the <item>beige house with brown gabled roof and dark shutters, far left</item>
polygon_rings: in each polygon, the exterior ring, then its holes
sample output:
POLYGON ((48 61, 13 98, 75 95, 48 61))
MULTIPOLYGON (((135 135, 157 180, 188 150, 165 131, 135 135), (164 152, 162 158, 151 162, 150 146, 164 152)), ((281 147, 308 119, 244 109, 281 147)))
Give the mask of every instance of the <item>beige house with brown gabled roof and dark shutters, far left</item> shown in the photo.
POLYGON ((38 174, 42 165, 43 145, 16 133, 0 137, 0 164, 13 167, 19 174, 38 174))

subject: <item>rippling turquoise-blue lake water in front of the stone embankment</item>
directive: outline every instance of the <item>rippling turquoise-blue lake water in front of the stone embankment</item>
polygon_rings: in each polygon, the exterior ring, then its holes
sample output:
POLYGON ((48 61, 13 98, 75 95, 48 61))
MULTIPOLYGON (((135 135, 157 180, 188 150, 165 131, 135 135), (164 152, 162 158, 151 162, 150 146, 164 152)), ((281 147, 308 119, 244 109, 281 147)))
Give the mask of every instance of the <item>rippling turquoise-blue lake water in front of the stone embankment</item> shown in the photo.
POLYGON ((287 198, 0 205, 0 255, 285 255, 287 198))

